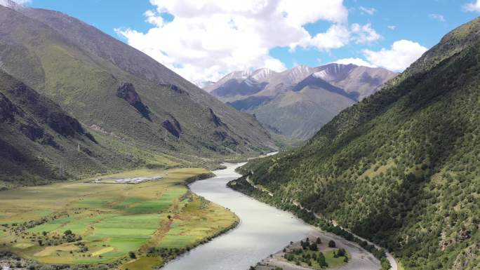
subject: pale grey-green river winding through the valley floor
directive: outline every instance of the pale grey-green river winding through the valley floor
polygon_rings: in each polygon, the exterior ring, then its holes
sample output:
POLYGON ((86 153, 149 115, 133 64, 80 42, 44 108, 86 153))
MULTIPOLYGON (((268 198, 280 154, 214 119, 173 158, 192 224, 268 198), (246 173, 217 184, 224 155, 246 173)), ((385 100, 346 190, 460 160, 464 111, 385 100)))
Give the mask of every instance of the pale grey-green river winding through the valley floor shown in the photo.
POLYGON ((167 264, 166 270, 248 270, 261 259, 281 250, 290 241, 298 241, 312 227, 288 212, 277 210, 226 187, 240 175, 234 172, 239 164, 225 164, 215 171, 217 177, 194 182, 190 189, 229 208, 241 219, 236 229, 201 245, 185 256, 167 264))

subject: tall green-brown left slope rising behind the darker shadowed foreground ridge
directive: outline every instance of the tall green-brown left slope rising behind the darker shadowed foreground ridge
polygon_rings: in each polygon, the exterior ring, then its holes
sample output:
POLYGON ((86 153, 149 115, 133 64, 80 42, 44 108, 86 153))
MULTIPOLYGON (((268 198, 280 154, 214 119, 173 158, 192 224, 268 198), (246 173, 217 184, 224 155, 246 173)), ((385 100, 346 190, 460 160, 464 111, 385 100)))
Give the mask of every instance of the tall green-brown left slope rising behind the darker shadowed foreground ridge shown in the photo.
POLYGON ((1 69, 86 128, 168 154, 254 154, 274 147, 247 114, 84 22, 0 6, 1 69))

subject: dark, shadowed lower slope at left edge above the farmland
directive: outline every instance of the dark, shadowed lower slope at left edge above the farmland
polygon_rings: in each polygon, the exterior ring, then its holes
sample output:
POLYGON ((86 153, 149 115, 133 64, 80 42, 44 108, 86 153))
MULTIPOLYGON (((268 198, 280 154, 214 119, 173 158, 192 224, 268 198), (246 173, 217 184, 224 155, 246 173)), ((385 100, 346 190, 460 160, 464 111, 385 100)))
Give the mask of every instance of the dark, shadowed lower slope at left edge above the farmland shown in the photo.
MULTIPOLYGON (((147 158, 147 153, 142 154, 147 158)), ((137 156, 114 153, 58 104, 0 71, 0 187, 41 184, 87 170, 102 173, 140 163, 137 156)))

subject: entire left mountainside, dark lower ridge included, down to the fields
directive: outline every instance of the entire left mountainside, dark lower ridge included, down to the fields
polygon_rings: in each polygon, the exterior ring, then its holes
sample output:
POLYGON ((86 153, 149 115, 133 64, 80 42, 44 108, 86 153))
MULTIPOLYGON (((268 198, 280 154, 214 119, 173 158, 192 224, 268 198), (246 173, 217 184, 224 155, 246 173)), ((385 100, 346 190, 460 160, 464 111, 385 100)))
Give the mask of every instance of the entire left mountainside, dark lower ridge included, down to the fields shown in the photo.
POLYGON ((0 72, 0 180, 198 165, 275 149, 253 116, 57 11, 0 0, 0 72))

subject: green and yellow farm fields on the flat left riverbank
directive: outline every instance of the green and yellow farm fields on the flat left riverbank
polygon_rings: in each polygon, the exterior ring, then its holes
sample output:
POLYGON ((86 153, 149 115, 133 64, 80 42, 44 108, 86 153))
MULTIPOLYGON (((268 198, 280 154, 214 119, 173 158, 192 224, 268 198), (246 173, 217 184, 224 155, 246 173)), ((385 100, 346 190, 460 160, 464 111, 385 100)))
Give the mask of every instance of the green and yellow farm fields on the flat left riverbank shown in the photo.
POLYGON ((140 184, 91 179, 0 192, 0 250, 43 264, 107 264, 149 269, 234 226, 220 205, 192 194, 201 168, 134 170, 108 177, 149 177, 140 184))

